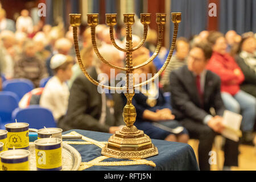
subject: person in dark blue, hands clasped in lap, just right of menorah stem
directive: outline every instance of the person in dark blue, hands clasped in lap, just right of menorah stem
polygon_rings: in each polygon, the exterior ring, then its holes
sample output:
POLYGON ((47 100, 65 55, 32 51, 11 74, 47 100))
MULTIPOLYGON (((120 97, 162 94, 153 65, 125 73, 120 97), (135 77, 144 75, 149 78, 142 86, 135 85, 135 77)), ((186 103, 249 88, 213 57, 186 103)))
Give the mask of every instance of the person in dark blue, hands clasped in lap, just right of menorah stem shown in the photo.
MULTIPOLYGON (((133 65, 139 65, 149 59, 148 54, 143 54, 133 60, 133 65)), ((134 70, 134 82, 139 84, 154 76, 156 68, 151 62, 144 67, 134 70), (148 75, 149 74, 149 75, 148 75), (149 77, 148 77, 149 76, 149 77), (144 77, 144 80, 143 80, 144 77)), ((125 103, 126 103, 126 97, 125 103)), ((162 139, 172 142, 188 142, 188 132, 185 128, 180 131, 172 131, 180 127, 180 123, 175 121, 172 114, 172 107, 163 97, 163 92, 155 82, 146 86, 135 88, 133 97, 137 117, 134 125, 143 130, 146 135, 154 139, 162 139)))

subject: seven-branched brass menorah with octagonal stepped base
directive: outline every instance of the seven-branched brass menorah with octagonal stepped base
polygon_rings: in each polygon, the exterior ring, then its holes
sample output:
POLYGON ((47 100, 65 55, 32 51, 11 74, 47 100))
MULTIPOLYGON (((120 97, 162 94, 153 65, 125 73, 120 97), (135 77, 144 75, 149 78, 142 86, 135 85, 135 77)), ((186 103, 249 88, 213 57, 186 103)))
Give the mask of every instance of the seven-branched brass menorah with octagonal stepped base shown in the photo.
POLYGON ((87 23, 91 28, 91 36, 92 36, 92 45, 96 55, 100 58, 100 60, 109 65, 109 67, 115 69, 121 69, 122 71, 126 72, 126 84, 123 87, 114 87, 108 85, 102 85, 100 82, 94 80, 86 71, 84 65, 81 61, 81 56, 79 52, 79 44, 77 41, 77 27, 81 24, 81 14, 69 14, 70 16, 70 24, 73 27, 73 38, 75 44, 75 50, 77 55, 77 60, 79 61, 80 68, 84 75, 88 78, 90 82, 97 86, 101 86, 105 89, 110 90, 124 90, 125 96, 127 98, 127 103, 123 108, 123 120, 126 123, 126 126, 122 128, 120 131, 116 131, 114 135, 112 135, 109 140, 108 144, 104 148, 102 148, 101 154, 110 156, 113 158, 121 158, 121 159, 135 159, 135 158, 147 158, 149 156, 154 156, 158 154, 158 149, 152 144, 151 139, 144 134, 142 130, 138 130, 133 124, 136 120, 136 110, 134 105, 131 103, 133 96, 134 96, 134 89, 140 86, 146 85, 149 82, 155 80, 164 69, 166 69, 168 63, 171 60, 172 53, 174 51, 177 30, 179 23, 181 22, 181 13, 172 13, 172 22, 174 23, 174 34, 172 37, 172 44, 170 48, 170 52, 166 61, 163 64, 163 67, 156 73, 153 77, 149 80, 141 82, 139 84, 133 84, 133 71, 134 69, 138 69, 143 67, 144 65, 149 64, 155 57, 158 55, 160 48, 163 44, 163 28, 164 24, 166 23, 166 14, 165 13, 157 13, 156 14, 156 23, 158 24, 158 43, 155 49, 154 54, 144 63, 133 66, 133 59, 132 59, 132 52, 140 48, 147 38, 147 30, 148 25, 150 24, 151 14, 149 13, 142 13, 141 14, 141 23, 143 24, 143 38, 141 42, 133 47, 132 42, 132 28, 131 26, 134 24, 134 14, 123 14, 123 22, 126 25, 126 48, 121 48, 115 43, 113 30, 114 26, 117 24, 117 14, 106 14, 106 24, 109 26, 109 33, 110 39, 112 44, 115 48, 120 51, 126 53, 126 65, 125 68, 117 67, 113 64, 110 64, 108 61, 101 56, 100 52, 98 51, 97 44, 96 44, 96 26, 98 24, 98 14, 88 14, 87 23))

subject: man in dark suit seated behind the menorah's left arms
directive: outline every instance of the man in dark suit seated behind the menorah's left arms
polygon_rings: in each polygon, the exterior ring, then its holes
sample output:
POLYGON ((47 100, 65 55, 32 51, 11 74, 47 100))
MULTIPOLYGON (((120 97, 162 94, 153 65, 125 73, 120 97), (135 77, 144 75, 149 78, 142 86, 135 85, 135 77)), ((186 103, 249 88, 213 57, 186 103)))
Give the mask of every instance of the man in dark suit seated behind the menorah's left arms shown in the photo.
MULTIPOLYGON (((99 48, 99 51, 111 64, 123 67, 122 57, 117 49, 105 45, 99 48)), ((96 57, 93 65, 87 71, 94 80, 100 78, 100 73, 107 75, 110 79, 108 65, 101 63, 96 57)), ((117 69, 115 73, 118 73, 117 69)), ((103 84, 102 81, 101 83, 103 84)), ((98 86, 92 84, 84 73, 81 73, 73 82, 68 102, 67 114, 58 122, 58 126, 63 130, 81 129, 114 134, 121 129, 122 125, 125 125, 122 117, 121 94, 100 93, 98 86)))

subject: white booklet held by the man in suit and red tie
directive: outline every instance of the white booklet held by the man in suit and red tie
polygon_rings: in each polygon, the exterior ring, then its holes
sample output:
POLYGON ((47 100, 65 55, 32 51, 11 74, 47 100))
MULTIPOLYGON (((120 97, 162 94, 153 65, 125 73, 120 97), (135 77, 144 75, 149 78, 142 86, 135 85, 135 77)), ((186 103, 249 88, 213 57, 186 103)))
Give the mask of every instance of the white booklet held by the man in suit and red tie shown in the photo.
POLYGON ((223 114, 223 123, 225 129, 222 131, 222 136, 238 142, 239 138, 242 137, 240 125, 242 121, 242 115, 233 113, 232 111, 225 110, 223 114))

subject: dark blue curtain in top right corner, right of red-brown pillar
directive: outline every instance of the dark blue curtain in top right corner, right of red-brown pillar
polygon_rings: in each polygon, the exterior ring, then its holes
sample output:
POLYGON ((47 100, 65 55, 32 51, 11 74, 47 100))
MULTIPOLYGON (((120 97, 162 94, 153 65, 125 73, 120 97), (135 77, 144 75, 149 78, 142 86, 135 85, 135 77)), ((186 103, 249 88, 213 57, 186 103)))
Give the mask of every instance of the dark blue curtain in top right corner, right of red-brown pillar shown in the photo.
POLYGON ((220 1, 219 27, 222 33, 235 30, 238 34, 256 32, 255 0, 220 1))

